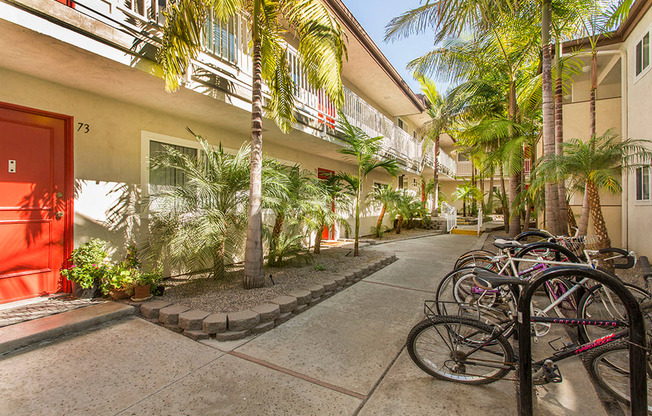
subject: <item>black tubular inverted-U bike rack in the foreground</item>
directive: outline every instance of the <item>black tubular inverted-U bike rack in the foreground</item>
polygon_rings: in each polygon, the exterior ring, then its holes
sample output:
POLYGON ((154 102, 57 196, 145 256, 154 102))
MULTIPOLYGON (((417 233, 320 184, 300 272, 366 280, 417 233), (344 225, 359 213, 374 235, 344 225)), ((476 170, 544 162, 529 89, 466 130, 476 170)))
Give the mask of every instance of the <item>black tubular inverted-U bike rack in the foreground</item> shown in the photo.
POLYGON ((629 388, 632 416, 647 415, 646 336, 643 313, 634 296, 616 278, 588 267, 553 267, 532 280, 521 293, 518 302, 519 336, 519 416, 533 414, 532 403, 532 338, 530 303, 534 292, 545 282, 555 278, 588 277, 611 289, 623 302, 629 316, 629 388))

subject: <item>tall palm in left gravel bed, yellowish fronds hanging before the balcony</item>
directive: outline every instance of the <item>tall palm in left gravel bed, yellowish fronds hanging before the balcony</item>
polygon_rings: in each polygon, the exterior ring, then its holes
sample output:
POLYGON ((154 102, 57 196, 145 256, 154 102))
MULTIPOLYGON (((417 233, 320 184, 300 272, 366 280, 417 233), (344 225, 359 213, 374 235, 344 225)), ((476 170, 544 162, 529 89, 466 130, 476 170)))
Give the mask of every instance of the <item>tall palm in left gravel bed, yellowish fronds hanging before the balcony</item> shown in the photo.
POLYGON ((165 13, 163 41, 158 58, 163 68, 165 88, 179 88, 180 79, 201 51, 204 23, 213 16, 227 22, 238 14, 249 16, 252 47, 251 169, 247 243, 245 251, 246 288, 262 287, 262 137, 263 80, 270 91, 267 117, 284 132, 295 122, 295 86, 283 39, 286 25, 299 42, 298 53, 308 82, 323 89, 336 106, 343 103, 342 59, 346 53, 342 29, 326 6, 318 0, 179 0, 165 13))

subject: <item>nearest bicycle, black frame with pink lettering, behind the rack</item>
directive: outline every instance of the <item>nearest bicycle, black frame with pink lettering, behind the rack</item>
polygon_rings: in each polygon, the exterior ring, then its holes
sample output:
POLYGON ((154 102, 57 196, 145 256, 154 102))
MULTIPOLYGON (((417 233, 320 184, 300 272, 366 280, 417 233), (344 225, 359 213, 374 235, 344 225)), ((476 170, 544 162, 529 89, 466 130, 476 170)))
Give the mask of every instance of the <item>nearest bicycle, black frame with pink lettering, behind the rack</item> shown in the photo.
MULTIPOLYGON (((476 283, 487 290, 509 285, 524 286, 528 283, 512 276, 500 276, 483 269, 476 269, 476 283)), ((441 301, 424 302, 426 319, 415 325, 407 338, 407 350, 414 363, 427 374, 447 381, 465 384, 487 384, 505 379, 518 369, 512 346, 505 336, 517 325, 512 317, 509 325, 488 325, 464 316, 441 315, 441 301)), ((628 324, 619 320, 560 319, 532 316, 534 323, 560 323, 578 326, 603 326, 617 329, 589 343, 565 345, 551 356, 532 363, 534 383, 558 383, 562 381, 557 362, 581 355, 587 362, 590 376, 605 387, 618 400, 629 400, 629 373, 625 367, 623 352, 628 351, 628 324), (607 359, 608 358, 608 359, 607 359), (620 367, 618 366, 620 365, 620 367)), ((652 367, 648 355, 648 380, 652 367)), ((652 403, 652 391, 648 390, 648 403, 652 403)), ((648 407, 652 411, 652 407, 648 407)))

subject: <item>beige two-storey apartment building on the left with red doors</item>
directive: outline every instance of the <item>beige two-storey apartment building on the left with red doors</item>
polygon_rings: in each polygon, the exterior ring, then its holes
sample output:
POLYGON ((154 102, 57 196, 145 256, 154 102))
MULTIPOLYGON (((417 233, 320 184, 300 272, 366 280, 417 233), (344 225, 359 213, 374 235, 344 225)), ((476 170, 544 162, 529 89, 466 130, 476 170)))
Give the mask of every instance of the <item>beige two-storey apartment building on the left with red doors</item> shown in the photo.
MULTIPOLYGON (((410 189, 421 173, 432 177, 432 157, 424 166, 416 139, 424 102, 343 3, 325 3, 348 38, 343 111, 369 135, 383 136, 384 154, 402 168, 399 178, 373 173, 365 188, 392 183, 410 189)), ((108 210, 120 197, 135 200, 154 186, 174 185, 160 183, 173 178, 152 177, 148 160, 164 144, 196 152, 186 127, 227 149, 249 141, 244 17, 207 25, 204 52, 170 94, 155 59, 165 4, 0 0, 0 302, 61 289, 64 258, 90 238, 124 241, 123 230, 107 227, 108 210)), ((336 111, 305 82, 292 42, 289 36, 299 122, 282 134, 265 120, 263 152, 316 175, 352 171, 338 153, 336 111)), ((440 159, 453 176, 450 156, 442 152, 440 159)), ((375 215, 364 207, 363 235, 375 215)), ((328 237, 343 234, 335 228, 328 237)))

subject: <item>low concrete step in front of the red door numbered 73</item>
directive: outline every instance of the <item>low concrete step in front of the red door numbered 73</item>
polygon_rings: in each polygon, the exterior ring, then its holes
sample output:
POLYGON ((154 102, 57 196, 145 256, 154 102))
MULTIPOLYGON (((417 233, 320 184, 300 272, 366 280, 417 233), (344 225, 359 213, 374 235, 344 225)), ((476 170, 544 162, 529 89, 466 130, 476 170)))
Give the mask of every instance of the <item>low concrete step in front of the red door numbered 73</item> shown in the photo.
POLYGON ((133 315, 129 305, 105 302, 0 328, 0 355, 46 339, 71 334, 133 315))

